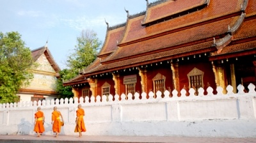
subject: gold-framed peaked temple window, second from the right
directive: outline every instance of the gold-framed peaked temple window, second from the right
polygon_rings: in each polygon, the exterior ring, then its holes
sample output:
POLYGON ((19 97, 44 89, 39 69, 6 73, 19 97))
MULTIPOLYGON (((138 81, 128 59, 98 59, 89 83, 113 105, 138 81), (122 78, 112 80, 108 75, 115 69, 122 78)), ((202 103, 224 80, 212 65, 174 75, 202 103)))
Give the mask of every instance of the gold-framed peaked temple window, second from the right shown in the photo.
POLYGON ((161 91, 162 98, 163 98, 164 91, 166 90, 165 89, 165 79, 166 79, 166 77, 164 77, 164 75, 161 75, 161 73, 157 73, 157 75, 153 78, 154 93, 155 93, 154 98, 156 98, 157 91, 161 91))

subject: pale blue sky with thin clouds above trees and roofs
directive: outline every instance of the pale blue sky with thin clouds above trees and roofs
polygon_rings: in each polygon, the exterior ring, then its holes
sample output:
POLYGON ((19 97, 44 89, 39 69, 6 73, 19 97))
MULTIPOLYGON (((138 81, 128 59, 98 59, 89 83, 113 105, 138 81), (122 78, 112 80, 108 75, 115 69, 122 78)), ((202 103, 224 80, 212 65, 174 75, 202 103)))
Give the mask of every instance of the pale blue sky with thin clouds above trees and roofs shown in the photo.
MULTIPOLYGON (((145 0, 0 0, 0 32, 17 31, 26 47, 47 46, 60 66, 74 52, 83 30, 93 30, 104 43, 107 25, 115 26, 130 15, 145 11, 145 0), (106 22, 105 22, 106 19, 106 22)), ((152 3, 153 1, 149 1, 152 3)))

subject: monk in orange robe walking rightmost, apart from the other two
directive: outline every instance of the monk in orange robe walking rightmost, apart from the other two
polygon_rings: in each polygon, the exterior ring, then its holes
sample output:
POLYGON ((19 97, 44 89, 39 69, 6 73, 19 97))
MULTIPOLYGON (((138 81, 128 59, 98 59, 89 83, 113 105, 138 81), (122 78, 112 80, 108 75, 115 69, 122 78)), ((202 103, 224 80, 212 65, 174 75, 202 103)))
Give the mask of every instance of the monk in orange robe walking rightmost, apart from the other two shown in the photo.
POLYGON ((82 137, 82 132, 86 132, 86 128, 84 126, 84 109, 82 109, 81 104, 79 104, 77 108, 75 133, 79 132, 79 137, 82 137))

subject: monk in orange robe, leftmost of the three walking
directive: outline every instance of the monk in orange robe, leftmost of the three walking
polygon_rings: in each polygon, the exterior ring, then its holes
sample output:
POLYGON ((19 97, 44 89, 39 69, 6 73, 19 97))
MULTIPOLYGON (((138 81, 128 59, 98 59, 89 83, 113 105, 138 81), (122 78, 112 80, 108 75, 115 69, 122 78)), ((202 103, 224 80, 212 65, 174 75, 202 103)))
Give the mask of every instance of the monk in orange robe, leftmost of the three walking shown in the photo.
POLYGON ((37 107, 37 112, 35 113, 35 126, 34 131, 37 133, 37 137, 41 136, 44 130, 44 112, 41 111, 41 107, 37 107))

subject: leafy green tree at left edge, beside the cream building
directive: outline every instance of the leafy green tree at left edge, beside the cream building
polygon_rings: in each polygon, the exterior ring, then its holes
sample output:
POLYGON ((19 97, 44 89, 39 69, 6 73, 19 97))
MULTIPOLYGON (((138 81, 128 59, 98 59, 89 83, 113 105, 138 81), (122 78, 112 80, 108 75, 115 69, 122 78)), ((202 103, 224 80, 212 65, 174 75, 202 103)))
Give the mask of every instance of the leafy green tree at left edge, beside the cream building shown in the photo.
POLYGON ((33 74, 31 50, 17 32, 0 33, 0 103, 17 102, 21 86, 27 86, 33 74))

